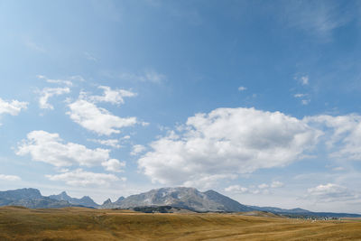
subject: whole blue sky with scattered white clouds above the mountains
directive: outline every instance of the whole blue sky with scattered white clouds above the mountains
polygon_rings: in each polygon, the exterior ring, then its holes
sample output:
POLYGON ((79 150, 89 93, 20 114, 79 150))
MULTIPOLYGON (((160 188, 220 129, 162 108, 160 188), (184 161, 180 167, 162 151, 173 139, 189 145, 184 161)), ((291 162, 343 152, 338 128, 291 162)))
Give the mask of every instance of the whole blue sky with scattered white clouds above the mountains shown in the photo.
POLYGON ((358 1, 0 0, 0 190, 361 213, 358 1))

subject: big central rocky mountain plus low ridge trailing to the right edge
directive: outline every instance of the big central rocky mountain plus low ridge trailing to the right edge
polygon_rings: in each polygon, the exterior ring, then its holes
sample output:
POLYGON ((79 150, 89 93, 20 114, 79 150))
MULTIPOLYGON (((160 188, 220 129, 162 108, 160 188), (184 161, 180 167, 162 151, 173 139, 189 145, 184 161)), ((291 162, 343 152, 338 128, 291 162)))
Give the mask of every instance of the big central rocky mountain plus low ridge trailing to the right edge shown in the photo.
MULTIPOLYGON (((252 212, 262 211, 290 218, 361 218, 358 214, 311 212, 306 209, 280 209, 274 207, 246 206, 215 190, 200 192, 193 188, 162 188, 150 190, 127 198, 120 197, 115 202, 107 199, 99 209, 134 209, 145 212, 155 209, 189 209, 198 212, 252 212)), ((157 210, 155 210, 157 211, 157 210)), ((159 211, 159 210, 158 210, 159 211)), ((162 212, 162 210, 161 210, 162 212)))

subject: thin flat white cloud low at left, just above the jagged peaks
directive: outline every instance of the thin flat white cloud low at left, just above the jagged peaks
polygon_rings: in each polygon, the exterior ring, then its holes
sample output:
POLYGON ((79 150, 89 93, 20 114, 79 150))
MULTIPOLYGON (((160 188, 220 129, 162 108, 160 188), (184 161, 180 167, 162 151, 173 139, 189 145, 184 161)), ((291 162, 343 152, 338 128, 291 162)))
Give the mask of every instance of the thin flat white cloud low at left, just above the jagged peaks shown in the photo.
POLYGON ((83 171, 77 169, 76 171, 68 171, 56 175, 46 175, 51 181, 65 181, 71 186, 108 186, 112 181, 119 181, 119 179, 113 174, 106 173, 94 173, 90 171, 83 171))

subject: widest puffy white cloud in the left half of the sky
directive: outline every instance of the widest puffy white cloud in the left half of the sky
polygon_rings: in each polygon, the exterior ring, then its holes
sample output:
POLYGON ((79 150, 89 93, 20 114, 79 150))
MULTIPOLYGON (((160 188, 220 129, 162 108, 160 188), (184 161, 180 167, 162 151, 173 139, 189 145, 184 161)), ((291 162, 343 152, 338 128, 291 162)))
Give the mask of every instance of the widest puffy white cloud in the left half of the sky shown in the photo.
POLYGON ((83 166, 100 165, 108 162, 109 150, 88 149, 85 145, 66 143, 59 134, 45 131, 32 131, 27 134, 16 151, 17 155, 30 154, 33 161, 50 163, 57 167, 79 164, 83 166))

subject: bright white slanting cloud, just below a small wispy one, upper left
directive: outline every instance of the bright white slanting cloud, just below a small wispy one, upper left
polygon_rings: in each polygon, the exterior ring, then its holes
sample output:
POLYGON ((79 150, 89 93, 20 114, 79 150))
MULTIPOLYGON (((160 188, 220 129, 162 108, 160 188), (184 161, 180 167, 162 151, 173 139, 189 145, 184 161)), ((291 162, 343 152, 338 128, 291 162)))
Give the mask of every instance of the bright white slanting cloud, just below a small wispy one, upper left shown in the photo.
POLYGON ((97 134, 118 134, 120 128, 137 123, 135 117, 122 118, 114 116, 106 109, 97 107, 84 99, 78 99, 69 104, 68 107, 70 111, 67 112, 67 115, 74 122, 97 134))

